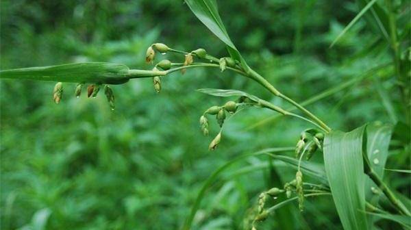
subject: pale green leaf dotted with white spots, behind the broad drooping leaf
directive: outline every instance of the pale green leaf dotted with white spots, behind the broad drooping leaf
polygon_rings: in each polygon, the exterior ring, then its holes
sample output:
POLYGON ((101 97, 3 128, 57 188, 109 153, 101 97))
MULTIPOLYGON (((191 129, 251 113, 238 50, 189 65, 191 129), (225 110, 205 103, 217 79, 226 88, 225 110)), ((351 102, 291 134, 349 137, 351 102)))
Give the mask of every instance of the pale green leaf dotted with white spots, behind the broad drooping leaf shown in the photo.
MULTIPOLYGON (((380 123, 371 123, 366 126, 366 155, 371 163, 371 168, 381 178, 384 176, 392 130, 391 125, 381 125, 380 123)), ((373 196, 371 187, 377 188, 371 179, 366 178, 365 194, 367 200, 373 196)))

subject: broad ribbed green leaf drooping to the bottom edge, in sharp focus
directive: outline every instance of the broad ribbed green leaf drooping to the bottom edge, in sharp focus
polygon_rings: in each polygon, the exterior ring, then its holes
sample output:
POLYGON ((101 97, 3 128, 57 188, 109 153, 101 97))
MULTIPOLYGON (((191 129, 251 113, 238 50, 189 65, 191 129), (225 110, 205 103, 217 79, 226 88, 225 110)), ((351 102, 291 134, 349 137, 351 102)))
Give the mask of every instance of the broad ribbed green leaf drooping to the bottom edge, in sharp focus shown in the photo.
POLYGON ((338 216, 346 230, 367 229, 363 133, 364 126, 349 133, 331 131, 324 139, 325 172, 338 216))

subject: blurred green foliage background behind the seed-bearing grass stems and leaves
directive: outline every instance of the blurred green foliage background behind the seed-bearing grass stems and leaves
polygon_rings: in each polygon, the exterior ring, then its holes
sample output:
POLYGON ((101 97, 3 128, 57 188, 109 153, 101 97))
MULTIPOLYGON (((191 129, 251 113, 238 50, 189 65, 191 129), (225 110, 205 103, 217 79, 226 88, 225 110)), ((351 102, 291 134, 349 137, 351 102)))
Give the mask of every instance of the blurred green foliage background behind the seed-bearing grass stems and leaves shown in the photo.
MULTIPOLYGON (((70 62, 150 69, 144 60, 153 42, 227 56, 183 1, 3 0, 0 6, 1 69, 70 62)), ((375 34, 364 20, 328 48, 358 12, 351 1, 219 1, 219 10, 249 65, 296 101, 390 61, 386 46, 373 45, 375 34)), ((389 105, 401 114, 399 93, 392 76, 382 74, 308 108, 345 131, 373 120, 393 123, 382 98, 389 95, 389 105)), ((227 122, 219 149, 209 152, 218 127, 212 121, 211 135, 203 137, 199 116, 227 99, 197 88, 243 90, 288 107, 255 82, 215 69, 167 76, 160 94, 151 79, 113 86, 114 112, 103 94, 75 98, 75 84, 64 85, 62 102, 55 105, 53 85, 0 81, 1 229, 178 229, 218 166, 243 153, 294 146, 310 127, 293 118, 273 119, 269 110, 247 109, 227 122)), ((242 229, 259 192, 295 175, 284 164, 269 170, 266 163, 266 157, 253 157, 230 168, 208 192, 193 229, 242 229), (247 175, 233 174, 259 164, 247 175)), ((388 164, 401 168, 406 159, 392 157, 388 164)), ((410 186, 401 178, 391 182, 400 190, 410 186)), ((308 199, 302 214, 288 205, 264 227, 342 228, 330 197, 308 199)))

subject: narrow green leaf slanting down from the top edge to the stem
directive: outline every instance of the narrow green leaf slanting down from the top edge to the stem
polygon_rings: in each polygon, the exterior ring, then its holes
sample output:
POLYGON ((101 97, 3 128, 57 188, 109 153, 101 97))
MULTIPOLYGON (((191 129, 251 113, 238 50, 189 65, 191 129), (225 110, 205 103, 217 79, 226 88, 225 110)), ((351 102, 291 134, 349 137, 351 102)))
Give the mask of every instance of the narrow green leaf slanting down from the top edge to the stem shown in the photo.
POLYGON ((225 44, 229 54, 241 63, 242 68, 248 70, 247 63, 241 57, 240 52, 229 38, 227 30, 221 20, 216 0, 185 0, 190 10, 199 18, 201 23, 206 25, 212 33, 220 38, 225 44))

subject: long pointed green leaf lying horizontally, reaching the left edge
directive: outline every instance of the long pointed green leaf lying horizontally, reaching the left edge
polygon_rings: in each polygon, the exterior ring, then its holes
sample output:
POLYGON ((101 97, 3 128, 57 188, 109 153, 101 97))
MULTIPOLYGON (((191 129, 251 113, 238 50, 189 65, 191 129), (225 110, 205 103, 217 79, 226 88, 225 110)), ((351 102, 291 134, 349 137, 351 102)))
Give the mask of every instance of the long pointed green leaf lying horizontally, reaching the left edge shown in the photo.
POLYGON ((128 73, 129 68, 123 64, 86 62, 0 71, 0 79, 123 84, 129 80, 128 73))

